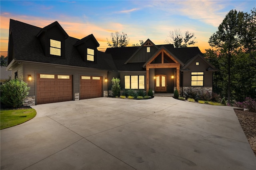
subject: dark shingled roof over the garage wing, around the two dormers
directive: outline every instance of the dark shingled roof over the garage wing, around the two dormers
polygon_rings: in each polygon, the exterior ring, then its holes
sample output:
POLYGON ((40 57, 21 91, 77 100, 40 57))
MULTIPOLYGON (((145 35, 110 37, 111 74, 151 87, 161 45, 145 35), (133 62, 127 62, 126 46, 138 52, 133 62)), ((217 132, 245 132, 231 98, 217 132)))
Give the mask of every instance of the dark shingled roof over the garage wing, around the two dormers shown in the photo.
POLYGON ((74 44, 80 41, 77 38, 66 39, 65 57, 50 57, 44 55, 40 40, 36 35, 42 28, 32 26, 16 20, 10 20, 10 31, 14 42, 15 59, 23 61, 34 61, 59 65, 70 65, 78 67, 89 67, 96 69, 114 70, 113 62, 109 55, 97 52, 96 62, 85 62, 78 53, 74 44), (106 57, 107 56, 107 57, 106 57), (106 57, 106 58, 104 58, 106 57))

